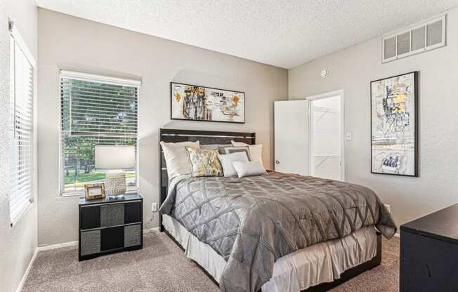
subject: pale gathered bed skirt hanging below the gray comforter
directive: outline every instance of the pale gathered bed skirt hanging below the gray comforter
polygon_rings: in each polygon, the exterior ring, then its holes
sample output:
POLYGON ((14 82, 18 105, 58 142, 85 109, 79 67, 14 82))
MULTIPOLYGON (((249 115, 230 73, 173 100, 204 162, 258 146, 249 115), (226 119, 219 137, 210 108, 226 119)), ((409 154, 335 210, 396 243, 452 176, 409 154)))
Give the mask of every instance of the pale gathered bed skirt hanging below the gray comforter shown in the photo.
MULTIPOLYGON (((224 258, 170 215, 162 215, 162 224, 183 246, 185 255, 219 281, 226 264, 224 258)), ((341 239, 314 244, 278 258, 273 267, 273 276, 263 284, 261 290, 298 292, 331 282, 339 279, 346 270, 371 260, 376 253, 377 234, 374 227, 362 227, 341 239)))

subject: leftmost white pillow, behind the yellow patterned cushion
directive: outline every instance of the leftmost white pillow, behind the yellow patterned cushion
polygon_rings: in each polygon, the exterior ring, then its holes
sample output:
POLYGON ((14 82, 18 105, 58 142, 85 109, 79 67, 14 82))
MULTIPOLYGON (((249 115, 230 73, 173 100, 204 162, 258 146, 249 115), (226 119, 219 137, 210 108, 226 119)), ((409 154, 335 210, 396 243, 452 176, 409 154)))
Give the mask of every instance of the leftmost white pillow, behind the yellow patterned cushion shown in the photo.
POLYGON ((191 173, 191 162, 189 160, 188 151, 186 151, 186 146, 199 147, 199 141, 177 143, 166 143, 161 141, 160 144, 164 152, 169 180, 178 175, 191 173))

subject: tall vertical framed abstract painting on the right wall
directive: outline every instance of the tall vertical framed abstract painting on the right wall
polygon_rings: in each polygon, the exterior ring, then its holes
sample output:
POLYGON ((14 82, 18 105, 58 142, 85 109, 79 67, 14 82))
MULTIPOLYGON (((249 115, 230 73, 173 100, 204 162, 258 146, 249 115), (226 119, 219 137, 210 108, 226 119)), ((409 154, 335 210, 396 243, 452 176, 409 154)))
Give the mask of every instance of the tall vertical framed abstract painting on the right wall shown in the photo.
POLYGON ((371 172, 418 176, 418 72, 372 81, 371 172))

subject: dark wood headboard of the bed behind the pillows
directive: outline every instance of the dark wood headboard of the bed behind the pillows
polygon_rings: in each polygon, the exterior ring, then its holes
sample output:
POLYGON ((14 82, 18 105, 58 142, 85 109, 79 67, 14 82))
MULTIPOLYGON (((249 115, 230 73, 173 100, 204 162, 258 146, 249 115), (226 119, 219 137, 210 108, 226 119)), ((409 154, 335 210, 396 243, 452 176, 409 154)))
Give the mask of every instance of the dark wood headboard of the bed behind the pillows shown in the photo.
MULTIPOLYGON (((256 133, 247 132, 224 132, 224 131, 195 131, 195 130, 176 130, 171 128, 161 128, 159 130, 159 142, 185 142, 199 141, 200 145, 209 144, 230 144, 230 141, 245 142, 249 145, 256 144, 256 133)), ((167 187, 169 178, 167 176, 167 166, 159 144, 159 206, 162 206, 167 197, 167 187)), ((159 230, 162 232, 162 216, 159 214, 159 230)))

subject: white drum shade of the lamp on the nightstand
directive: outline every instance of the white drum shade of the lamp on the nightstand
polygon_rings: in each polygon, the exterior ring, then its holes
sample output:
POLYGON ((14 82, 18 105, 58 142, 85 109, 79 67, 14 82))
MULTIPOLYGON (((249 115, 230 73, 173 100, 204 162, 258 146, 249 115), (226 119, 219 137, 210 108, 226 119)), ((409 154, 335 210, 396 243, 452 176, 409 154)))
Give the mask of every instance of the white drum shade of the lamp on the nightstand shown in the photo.
POLYGON ((135 167, 135 146, 96 146, 96 168, 135 167))

